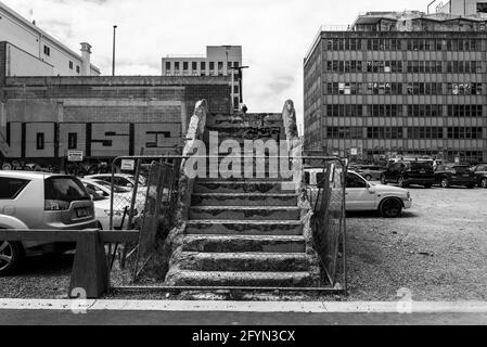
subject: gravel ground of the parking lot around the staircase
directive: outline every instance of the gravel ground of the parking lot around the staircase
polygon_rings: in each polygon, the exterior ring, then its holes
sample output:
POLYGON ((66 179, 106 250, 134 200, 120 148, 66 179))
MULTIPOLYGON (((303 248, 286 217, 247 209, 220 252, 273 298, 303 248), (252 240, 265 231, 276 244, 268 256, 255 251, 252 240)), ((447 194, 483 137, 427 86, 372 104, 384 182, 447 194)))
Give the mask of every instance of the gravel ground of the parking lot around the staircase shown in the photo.
MULTIPOLYGON (((349 299, 395 300, 401 288, 415 300, 487 299, 487 190, 410 191, 402 218, 348 216, 349 299)), ((73 255, 29 258, 20 274, 0 278, 0 297, 65 297, 72 264, 73 255)))

